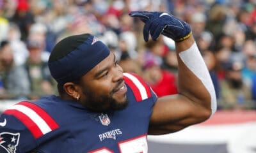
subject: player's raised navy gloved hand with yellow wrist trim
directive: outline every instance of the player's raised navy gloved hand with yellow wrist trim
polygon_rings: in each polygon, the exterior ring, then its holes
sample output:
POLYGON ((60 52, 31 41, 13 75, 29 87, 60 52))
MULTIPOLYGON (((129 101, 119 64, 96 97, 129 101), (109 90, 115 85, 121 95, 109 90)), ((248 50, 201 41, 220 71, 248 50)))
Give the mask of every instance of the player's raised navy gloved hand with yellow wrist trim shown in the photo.
POLYGON ((164 12, 131 11, 131 17, 138 17, 145 25, 143 28, 144 40, 148 41, 150 33, 152 40, 157 40, 160 34, 172 38, 174 41, 186 40, 191 36, 190 25, 164 12))

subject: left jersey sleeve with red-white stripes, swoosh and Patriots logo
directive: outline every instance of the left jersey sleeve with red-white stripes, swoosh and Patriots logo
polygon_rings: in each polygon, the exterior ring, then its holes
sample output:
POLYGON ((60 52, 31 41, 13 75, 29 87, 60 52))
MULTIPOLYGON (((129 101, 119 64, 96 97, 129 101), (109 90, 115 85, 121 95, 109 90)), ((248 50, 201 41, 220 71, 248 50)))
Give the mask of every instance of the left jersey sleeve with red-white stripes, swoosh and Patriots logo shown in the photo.
POLYGON ((35 149, 38 139, 59 128, 49 113, 29 101, 10 106, 1 114, 0 122, 0 152, 28 152, 35 149))

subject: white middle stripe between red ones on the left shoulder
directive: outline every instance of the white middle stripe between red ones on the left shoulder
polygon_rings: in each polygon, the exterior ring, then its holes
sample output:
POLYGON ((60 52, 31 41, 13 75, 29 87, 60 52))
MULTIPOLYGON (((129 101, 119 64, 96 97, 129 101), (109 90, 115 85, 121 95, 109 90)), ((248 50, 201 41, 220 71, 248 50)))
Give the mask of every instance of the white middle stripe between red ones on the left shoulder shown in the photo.
POLYGON ((13 105, 10 107, 10 110, 17 110, 19 112, 24 113, 24 115, 28 116, 29 119, 33 120, 33 122, 38 126, 38 128, 42 131, 43 134, 49 133, 52 129, 48 126, 42 117, 40 117, 34 110, 28 108, 24 105, 13 105))

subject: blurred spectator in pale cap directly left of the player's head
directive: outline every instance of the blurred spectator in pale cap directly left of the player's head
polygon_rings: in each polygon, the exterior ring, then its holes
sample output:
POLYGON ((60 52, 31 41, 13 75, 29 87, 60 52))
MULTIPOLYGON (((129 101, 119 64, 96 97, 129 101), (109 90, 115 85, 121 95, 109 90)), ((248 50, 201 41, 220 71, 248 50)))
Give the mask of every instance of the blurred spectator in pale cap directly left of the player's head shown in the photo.
POLYGON ((28 50, 29 56, 26 61, 26 69, 31 88, 29 99, 38 99, 40 96, 54 93, 55 82, 47 65, 49 56, 44 51, 44 44, 42 41, 28 40, 28 50))

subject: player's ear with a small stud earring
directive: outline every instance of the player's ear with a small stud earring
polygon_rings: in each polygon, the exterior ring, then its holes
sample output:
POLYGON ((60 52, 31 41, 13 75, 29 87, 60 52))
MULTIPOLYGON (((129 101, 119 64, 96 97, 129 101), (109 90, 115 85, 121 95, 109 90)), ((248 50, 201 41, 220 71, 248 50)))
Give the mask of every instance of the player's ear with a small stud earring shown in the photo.
POLYGON ((74 99, 77 99, 80 97, 80 87, 77 84, 74 84, 72 82, 67 82, 63 85, 63 89, 68 94, 68 96, 71 96, 74 99))

